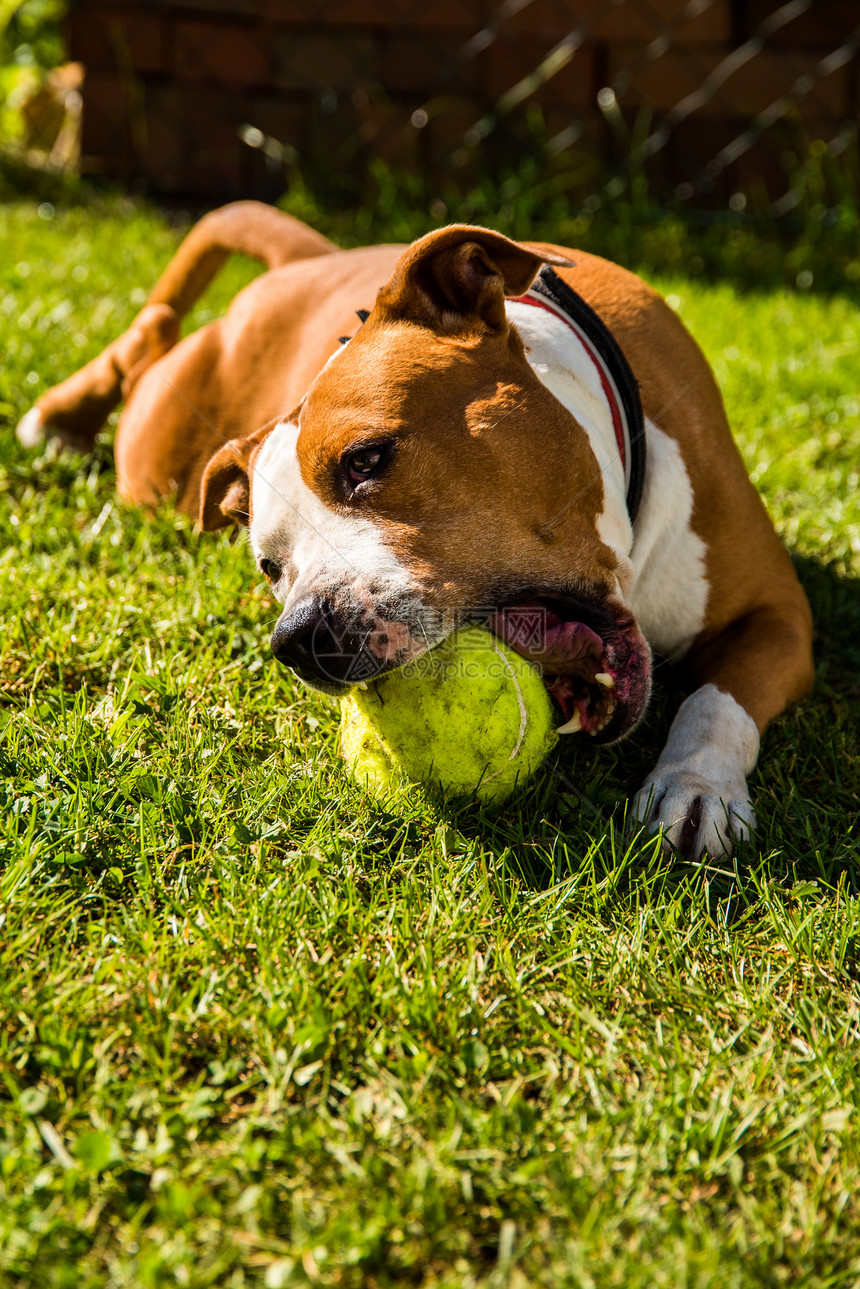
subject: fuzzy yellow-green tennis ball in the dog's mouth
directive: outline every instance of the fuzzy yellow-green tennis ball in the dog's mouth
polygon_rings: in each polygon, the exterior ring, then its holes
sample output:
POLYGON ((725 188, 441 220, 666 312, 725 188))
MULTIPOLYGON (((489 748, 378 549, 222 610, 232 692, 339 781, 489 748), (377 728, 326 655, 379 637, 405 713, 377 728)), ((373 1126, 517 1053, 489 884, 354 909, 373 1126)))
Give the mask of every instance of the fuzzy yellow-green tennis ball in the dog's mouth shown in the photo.
POLYGON ((536 666, 467 626, 342 703, 340 755, 384 797, 411 780, 447 797, 500 802, 556 742, 536 666))

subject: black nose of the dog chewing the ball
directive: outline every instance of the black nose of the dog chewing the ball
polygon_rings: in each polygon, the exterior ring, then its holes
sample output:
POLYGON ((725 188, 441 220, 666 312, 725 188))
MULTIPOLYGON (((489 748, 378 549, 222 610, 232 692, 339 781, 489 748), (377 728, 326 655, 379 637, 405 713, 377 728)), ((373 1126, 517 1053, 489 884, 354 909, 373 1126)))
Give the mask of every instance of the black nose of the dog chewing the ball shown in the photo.
POLYGON ((339 623, 330 606, 316 598, 281 615, 272 633, 272 654, 303 681, 326 688, 355 684, 367 669, 361 633, 339 623))

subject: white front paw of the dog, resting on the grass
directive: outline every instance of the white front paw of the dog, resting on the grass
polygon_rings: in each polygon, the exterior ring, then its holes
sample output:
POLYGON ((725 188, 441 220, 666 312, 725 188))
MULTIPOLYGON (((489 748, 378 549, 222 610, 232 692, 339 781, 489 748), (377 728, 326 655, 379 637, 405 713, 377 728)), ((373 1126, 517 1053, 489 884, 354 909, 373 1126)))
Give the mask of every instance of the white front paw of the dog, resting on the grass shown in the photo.
POLYGON ((687 770, 655 772, 634 798, 633 815, 686 860, 732 855, 756 830, 745 782, 712 784, 687 770))

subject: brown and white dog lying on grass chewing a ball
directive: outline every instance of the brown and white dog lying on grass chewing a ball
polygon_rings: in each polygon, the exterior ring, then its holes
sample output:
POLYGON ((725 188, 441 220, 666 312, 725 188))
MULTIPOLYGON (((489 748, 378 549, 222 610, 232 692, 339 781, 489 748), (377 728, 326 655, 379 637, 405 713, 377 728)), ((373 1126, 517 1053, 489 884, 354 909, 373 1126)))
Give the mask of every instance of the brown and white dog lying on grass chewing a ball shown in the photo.
POLYGON ((192 229, 21 441, 86 446, 121 398, 120 492, 250 525, 284 606, 272 648, 304 681, 343 690, 480 611, 543 665, 566 730, 611 741, 643 714, 651 650, 683 659, 696 688, 634 813, 687 856, 749 835, 759 735, 811 683, 810 610, 701 352, 632 273, 468 226, 342 251, 239 202, 192 229), (178 343, 231 251, 271 271, 178 343), (620 432, 611 370, 535 298, 542 266, 620 348, 641 429, 633 414, 620 432), (634 504, 625 454, 643 467, 634 504), (523 644, 535 610, 544 632, 523 644))

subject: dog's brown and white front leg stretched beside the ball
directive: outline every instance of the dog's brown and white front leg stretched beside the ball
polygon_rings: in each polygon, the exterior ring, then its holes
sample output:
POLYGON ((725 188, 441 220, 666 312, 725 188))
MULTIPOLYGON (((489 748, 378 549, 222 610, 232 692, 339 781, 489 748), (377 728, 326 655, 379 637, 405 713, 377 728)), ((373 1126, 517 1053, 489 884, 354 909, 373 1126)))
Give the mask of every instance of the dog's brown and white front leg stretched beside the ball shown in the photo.
POLYGON ((812 679, 802 593, 785 611, 763 610, 734 624, 694 650, 687 666, 700 688, 682 703, 633 812, 686 858, 731 855, 756 828, 747 776, 759 736, 812 679))

